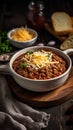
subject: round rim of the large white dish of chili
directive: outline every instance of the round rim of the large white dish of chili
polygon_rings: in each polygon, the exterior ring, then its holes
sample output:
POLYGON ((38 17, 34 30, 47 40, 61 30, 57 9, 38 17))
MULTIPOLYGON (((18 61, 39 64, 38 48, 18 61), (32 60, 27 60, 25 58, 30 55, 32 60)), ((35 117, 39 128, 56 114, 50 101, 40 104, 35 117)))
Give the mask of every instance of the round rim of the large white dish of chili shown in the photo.
MULTIPOLYGON (((54 52, 55 52, 55 51, 54 51, 54 52)), ((25 52, 24 52, 24 53, 25 53, 25 52)), ((62 56, 62 55, 61 55, 61 56, 62 56)), ((66 60, 66 59, 65 59, 65 60, 66 60)), ((67 60, 66 60, 66 62, 68 63, 67 60)), ((17 76, 17 77, 20 77, 20 78, 25 79, 25 80, 28 80, 28 81, 33 81, 33 82, 34 82, 34 81, 35 81, 35 82, 40 82, 40 81, 44 82, 44 81, 57 80, 57 79, 59 79, 59 78, 65 76, 65 75, 67 75, 68 72, 70 72, 70 70, 71 70, 72 62, 71 62, 70 57, 69 57, 67 54, 65 54, 63 51, 61 51, 61 50, 59 50, 59 49, 57 49, 57 48, 47 47, 47 46, 42 46, 42 47, 41 47, 41 46, 33 46, 33 47, 28 47, 28 48, 21 49, 21 50, 19 50, 18 52, 16 52, 16 53, 12 56, 12 58, 10 59, 9 66, 10 66, 11 72, 12 72, 15 76, 17 76), (14 61, 18 56, 20 56, 21 54, 23 54, 23 51, 24 51, 24 50, 26 51, 27 49, 36 49, 36 47, 37 47, 37 48, 54 49, 54 50, 56 50, 57 52, 61 52, 61 54, 63 54, 65 57, 67 57, 67 60, 69 60, 68 68, 66 69, 66 71, 65 71, 63 74, 61 74, 61 75, 59 75, 59 76, 57 76, 57 77, 50 78, 50 79, 44 79, 44 80, 30 79, 30 78, 23 77, 23 76, 19 75, 18 73, 16 73, 15 70, 13 69, 13 67, 12 67, 13 61, 14 61), (20 54, 20 53, 21 53, 21 54, 20 54), (16 57, 16 58, 14 59, 14 57, 16 57)))

